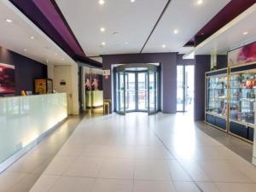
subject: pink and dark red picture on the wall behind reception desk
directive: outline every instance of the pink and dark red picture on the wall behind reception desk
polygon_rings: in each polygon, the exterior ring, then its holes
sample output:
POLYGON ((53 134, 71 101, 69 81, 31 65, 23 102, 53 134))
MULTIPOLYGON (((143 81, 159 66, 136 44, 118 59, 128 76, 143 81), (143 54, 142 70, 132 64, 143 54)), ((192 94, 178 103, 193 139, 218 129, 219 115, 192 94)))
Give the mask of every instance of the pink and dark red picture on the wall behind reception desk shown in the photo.
POLYGON ((0 63, 0 94, 15 93, 15 66, 0 63))

